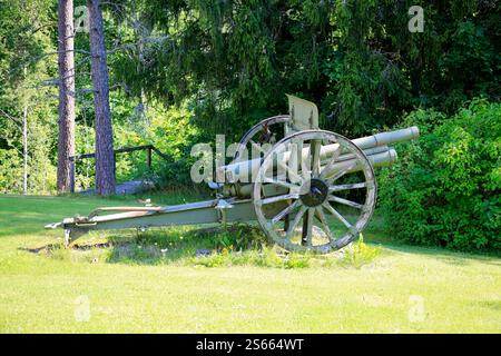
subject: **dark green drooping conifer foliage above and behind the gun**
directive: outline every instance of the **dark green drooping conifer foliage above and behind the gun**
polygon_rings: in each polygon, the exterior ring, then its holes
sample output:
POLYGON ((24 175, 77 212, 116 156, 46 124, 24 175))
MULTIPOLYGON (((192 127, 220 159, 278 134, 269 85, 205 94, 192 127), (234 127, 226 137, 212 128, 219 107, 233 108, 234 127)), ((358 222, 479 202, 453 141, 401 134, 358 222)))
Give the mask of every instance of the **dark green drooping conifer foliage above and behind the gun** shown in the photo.
POLYGON ((323 127, 355 136, 416 106, 454 112, 499 99, 495 1, 143 1, 148 23, 118 61, 132 92, 190 100, 197 125, 239 136, 285 111, 284 93, 318 103, 323 127), (423 33, 407 30, 424 8, 423 33))

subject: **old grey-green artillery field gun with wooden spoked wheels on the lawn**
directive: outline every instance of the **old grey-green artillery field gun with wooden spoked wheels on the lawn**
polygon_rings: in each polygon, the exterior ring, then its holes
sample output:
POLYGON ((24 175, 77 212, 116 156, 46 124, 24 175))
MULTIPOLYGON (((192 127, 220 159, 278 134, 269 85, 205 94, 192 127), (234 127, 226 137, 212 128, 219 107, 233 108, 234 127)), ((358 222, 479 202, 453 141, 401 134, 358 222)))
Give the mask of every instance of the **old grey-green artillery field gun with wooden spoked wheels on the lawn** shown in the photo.
POLYGON ((326 254, 346 246, 374 210, 373 168, 394 162, 396 151, 389 145, 419 137, 419 129, 350 140, 318 129, 313 102, 288 96, 288 103, 289 115, 254 126, 238 144, 233 161, 216 169, 217 182, 209 184, 217 190, 216 199, 98 208, 87 217, 66 218, 46 228, 62 228, 68 245, 91 230, 257 220, 268 238, 287 250, 326 254), (274 135, 274 130, 282 132, 274 135), (283 135, 279 140, 278 135, 283 135), (249 151, 257 151, 257 158, 247 159, 249 151))

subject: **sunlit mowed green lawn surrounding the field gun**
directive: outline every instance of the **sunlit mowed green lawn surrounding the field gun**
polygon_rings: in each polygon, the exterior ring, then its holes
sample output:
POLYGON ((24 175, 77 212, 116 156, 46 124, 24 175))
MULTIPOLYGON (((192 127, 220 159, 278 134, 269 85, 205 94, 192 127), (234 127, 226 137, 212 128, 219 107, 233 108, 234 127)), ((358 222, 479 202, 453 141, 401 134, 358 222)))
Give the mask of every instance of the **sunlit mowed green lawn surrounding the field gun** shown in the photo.
POLYGON ((45 224, 130 204, 0 197, 0 332, 501 332, 500 258, 391 244, 374 228, 365 238, 383 253, 362 268, 90 264, 24 249, 61 237, 45 224))

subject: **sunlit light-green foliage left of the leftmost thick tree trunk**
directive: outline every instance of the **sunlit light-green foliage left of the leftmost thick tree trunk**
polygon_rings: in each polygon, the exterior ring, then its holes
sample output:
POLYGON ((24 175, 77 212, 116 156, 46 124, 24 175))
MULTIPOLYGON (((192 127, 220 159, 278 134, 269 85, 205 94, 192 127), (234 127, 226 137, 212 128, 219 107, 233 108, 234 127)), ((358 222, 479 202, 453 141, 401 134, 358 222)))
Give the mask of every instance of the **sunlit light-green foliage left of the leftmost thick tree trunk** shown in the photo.
POLYGON ((51 4, 50 0, 0 1, 0 192, 22 191, 24 109, 28 191, 48 192, 56 186, 57 90, 45 85, 57 73, 57 66, 45 56, 55 50, 48 26, 53 19, 51 4))

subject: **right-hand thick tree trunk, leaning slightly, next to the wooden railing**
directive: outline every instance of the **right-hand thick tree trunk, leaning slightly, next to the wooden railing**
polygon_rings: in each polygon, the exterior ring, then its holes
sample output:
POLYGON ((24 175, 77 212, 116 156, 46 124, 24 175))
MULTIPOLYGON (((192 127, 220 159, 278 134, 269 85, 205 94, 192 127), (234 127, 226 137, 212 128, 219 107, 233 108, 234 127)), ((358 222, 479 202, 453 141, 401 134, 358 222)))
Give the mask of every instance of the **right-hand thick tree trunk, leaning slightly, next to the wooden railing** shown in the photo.
POLYGON ((109 80, 100 0, 87 0, 96 116, 96 192, 115 194, 115 154, 109 109, 109 80))

